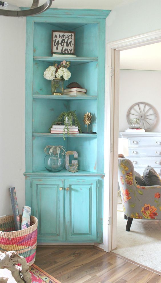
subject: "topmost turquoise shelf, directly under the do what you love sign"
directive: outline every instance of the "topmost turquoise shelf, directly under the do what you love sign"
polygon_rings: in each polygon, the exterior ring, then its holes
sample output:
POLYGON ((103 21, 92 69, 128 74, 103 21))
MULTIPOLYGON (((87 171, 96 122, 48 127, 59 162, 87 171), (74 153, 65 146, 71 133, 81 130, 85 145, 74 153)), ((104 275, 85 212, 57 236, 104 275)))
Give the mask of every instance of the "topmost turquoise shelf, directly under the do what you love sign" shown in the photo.
POLYGON ((97 62, 98 58, 97 57, 46 57, 46 56, 35 56, 33 57, 34 60, 37 61, 42 61, 42 62, 47 62, 47 63, 52 63, 54 61, 58 61, 61 62, 62 60, 66 60, 66 61, 70 61, 71 62, 71 66, 76 66, 76 65, 80 65, 80 64, 84 64, 84 63, 89 63, 89 62, 97 62))

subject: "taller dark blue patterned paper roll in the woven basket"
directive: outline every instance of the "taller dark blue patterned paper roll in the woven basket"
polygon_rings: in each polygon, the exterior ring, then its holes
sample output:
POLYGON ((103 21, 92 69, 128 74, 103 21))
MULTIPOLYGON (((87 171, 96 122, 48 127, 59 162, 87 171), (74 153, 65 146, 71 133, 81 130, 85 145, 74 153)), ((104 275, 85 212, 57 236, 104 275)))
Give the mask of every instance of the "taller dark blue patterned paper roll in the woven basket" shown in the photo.
POLYGON ((21 223, 20 223, 20 217, 19 217, 19 208, 17 204, 17 197, 16 197, 16 189, 15 187, 9 188, 10 190, 10 196, 11 196, 11 204, 12 204, 12 210, 13 210, 13 216, 14 216, 14 222, 15 222, 15 230, 21 230, 21 223))

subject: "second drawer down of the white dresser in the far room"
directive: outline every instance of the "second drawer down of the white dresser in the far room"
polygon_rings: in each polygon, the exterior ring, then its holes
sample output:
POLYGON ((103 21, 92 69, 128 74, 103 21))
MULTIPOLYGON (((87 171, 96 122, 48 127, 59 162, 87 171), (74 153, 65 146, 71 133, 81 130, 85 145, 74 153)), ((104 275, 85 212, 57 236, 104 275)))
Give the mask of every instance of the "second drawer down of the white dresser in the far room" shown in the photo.
POLYGON ((129 147, 128 149, 129 156, 140 156, 140 155, 153 155, 161 156, 161 147, 129 147))

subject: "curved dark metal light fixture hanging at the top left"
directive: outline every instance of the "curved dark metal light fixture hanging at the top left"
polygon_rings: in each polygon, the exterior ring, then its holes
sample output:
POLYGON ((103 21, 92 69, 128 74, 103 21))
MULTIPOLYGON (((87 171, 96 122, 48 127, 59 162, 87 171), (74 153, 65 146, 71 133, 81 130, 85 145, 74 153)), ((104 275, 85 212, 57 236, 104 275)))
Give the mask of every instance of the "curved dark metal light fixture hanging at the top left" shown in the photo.
POLYGON ((0 15, 9 16, 9 17, 27 17, 27 16, 37 15, 49 9, 53 1, 55 0, 47 0, 43 5, 38 7, 39 0, 33 0, 31 8, 27 10, 19 10, 19 11, 6 10, 5 8, 9 4, 7 2, 0 1, 0 5, 4 8, 4 9, 3 8, 0 9, 0 15))

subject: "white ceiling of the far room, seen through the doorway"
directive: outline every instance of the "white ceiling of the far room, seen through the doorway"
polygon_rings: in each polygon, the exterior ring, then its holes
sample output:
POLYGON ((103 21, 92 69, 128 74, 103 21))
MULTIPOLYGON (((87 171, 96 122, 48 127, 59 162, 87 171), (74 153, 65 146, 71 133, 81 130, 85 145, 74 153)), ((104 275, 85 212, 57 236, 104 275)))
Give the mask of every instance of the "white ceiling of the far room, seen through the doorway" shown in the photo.
POLYGON ((161 43, 120 51, 120 69, 161 71, 161 43))

